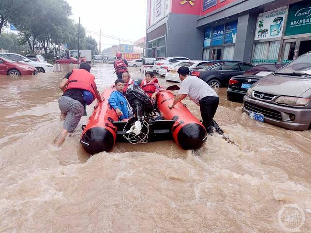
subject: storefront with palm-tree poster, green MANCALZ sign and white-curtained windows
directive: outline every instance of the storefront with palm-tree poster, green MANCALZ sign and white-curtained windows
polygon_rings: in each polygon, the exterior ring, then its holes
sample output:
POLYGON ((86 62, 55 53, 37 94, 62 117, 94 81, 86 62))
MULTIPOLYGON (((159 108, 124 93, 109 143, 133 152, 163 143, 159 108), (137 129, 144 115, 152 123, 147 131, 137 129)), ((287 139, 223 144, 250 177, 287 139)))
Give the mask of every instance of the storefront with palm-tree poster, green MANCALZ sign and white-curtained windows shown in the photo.
POLYGON ((311 50, 311 2, 258 14, 252 63, 287 63, 311 50), (286 22, 285 22, 285 19, 286 22))

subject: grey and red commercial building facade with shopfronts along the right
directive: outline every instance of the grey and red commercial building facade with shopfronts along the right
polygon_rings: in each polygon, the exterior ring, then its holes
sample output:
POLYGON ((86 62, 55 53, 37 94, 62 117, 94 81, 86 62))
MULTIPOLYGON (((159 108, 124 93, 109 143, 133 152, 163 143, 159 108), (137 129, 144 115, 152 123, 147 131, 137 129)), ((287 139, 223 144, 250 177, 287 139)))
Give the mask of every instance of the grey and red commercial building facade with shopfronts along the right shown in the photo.
POLYGON ((289 62, 311 50, 311 0, 148 0, 146 56, 289 62))

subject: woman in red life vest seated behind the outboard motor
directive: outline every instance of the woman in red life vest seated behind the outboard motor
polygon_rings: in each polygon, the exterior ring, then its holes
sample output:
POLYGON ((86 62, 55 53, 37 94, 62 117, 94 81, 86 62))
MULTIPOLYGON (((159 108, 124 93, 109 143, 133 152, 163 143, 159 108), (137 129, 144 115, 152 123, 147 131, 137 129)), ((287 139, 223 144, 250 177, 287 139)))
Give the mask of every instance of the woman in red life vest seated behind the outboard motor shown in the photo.
POLYGON ((140 88, 154 101, 160 94, 159 83, 157 78, 154 78, 154 73, 151 71, 146 72, 146 78, 141 81, 140 88))

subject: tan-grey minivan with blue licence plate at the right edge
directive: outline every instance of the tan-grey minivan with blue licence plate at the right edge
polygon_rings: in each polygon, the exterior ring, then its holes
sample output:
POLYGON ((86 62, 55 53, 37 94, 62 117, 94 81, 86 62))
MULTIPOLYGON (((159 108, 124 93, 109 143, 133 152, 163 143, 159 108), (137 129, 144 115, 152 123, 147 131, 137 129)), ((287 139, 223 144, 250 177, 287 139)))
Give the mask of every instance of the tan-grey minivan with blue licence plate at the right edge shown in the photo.
POLYGON ((311 52, 254 83, 242 109, 252 119, 285 129, 311 129, 311 52))

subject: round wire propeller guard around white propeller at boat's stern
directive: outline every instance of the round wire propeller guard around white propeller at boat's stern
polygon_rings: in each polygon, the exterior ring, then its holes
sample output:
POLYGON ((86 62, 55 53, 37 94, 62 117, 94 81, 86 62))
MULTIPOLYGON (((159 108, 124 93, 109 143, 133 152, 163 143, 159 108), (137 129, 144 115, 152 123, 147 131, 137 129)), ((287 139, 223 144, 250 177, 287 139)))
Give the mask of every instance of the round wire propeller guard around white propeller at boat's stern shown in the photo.
POLYGON ((123 137, 132 144, 148 142, 149 124, 140 116, 128 120, 123 129, 123 137))

